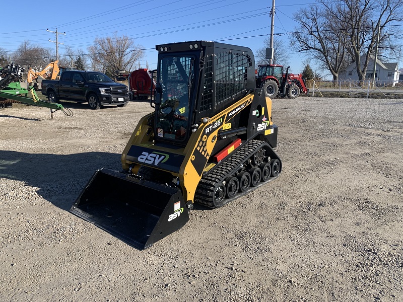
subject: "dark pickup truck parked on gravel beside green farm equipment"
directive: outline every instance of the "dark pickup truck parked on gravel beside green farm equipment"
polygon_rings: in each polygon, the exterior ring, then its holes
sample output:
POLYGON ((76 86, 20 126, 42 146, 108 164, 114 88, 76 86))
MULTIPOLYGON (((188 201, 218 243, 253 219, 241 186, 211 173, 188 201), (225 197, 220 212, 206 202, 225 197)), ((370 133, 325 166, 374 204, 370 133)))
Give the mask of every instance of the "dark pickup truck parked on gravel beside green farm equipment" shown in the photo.
POLYGON ((113 82, 102 72, 83 70, 64 71, 60 80, 43 80, 42 94, 50 102, 88 102, 91 109, 99 109, 106 104, 125 107, 129 100, 126 85, 113 82))

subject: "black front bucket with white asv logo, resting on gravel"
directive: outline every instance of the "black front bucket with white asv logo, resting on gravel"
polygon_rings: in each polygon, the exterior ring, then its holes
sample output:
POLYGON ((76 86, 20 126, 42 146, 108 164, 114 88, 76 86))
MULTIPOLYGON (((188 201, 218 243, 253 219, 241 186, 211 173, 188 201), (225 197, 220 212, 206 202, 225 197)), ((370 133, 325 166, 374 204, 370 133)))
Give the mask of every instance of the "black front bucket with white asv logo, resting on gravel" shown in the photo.
POLYGON ((179 190, 108 169, 95 172, 70 211, 140 250, 189 220, 179 190))

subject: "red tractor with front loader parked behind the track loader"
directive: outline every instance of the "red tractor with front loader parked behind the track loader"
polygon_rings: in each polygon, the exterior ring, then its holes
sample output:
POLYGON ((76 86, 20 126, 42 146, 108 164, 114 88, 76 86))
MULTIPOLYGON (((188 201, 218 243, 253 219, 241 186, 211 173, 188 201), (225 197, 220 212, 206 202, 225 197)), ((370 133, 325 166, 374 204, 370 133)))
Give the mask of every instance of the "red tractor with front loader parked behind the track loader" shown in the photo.
POLYGON ((298 98, 299 94, 308 93, 302 74, 284 73, 281 65, 259 65, 256 74, 256 88, 263 88, 264 94, 274 99, 279 96, 281 98, 289 97, 291 99, 298 98))

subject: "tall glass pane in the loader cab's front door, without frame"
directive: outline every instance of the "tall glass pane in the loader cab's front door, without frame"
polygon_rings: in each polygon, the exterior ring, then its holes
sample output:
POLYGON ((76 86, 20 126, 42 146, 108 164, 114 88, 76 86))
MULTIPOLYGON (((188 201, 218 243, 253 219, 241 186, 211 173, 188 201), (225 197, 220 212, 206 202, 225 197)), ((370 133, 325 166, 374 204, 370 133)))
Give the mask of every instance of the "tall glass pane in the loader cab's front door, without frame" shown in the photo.
POLYGON ((183 141, 187 136, 189 100, 194 87, 194 57, 163 57, 159 69, 161 101, 156 110, 156 134, 183 141))

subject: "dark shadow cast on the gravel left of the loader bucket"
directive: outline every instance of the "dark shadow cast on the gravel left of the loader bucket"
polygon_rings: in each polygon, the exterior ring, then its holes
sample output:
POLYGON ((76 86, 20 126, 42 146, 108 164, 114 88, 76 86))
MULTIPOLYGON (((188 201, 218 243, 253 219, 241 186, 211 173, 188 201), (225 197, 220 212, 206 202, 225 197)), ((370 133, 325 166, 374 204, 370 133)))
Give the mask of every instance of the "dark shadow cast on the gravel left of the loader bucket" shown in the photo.
POLYGON ((36 187, 38 195, 68 211, 96 170, 121 170, 120 156, 106 152, 54 155, 0 150, 0 177, 36 187))

